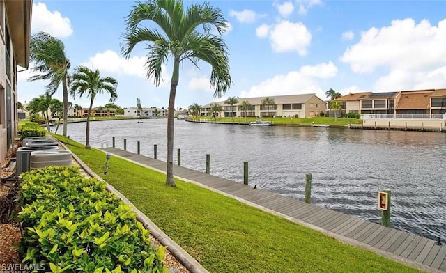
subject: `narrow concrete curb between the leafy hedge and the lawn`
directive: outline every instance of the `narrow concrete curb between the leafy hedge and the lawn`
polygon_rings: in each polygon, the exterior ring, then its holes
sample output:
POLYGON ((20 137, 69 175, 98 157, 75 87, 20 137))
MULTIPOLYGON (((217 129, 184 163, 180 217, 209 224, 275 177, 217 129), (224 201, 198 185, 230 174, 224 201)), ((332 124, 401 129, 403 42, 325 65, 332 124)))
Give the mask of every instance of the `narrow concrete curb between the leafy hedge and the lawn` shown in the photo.
MULTIPOLYGON (((65 146, 64 143, 61 141, 58 141, 63 148, 66 150, 70 150, 67 146, 65 146)), ((102 152, 102 151, 101 151, 102 152)), ((206 268, 204 268, 202 265, 200 265, 197 260, 195 260, 192 256, 190 256, 189 253, 187 253, 184 249, 182 249, 174 240, 171 240, 169 236, 167 236, 160 228, 158 228, 153 222, 144 215, 140 210, 138 210, 121 192, 118 192, 117 189, 115 189, 112 185, 109 185, 105 180, 103 180, 98 174, 91 171, 89 166, 86 166, 84 162, 82 162, 77 155, 74 153, 72 154, 72 157, 75 159, 77 164, 86 171, 90 176, 93 178, 96 178, 99 181, 105 182, 107 184, 106 189, 109 192, 112 192, 116 194, 124 203, 130 205, 132 210, 137 213, 137 220, 141 222, 141 224, 144 225, 145 228, 148 228, 151 231, 151 234, 153 237, 155 237, 163 246, 167 246, 167 249, 169 249, 172 256, 174 256, 184 267, 187 268, 192 273, 209 273, 206 268)))

